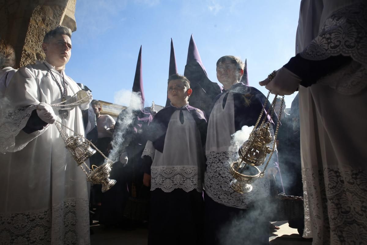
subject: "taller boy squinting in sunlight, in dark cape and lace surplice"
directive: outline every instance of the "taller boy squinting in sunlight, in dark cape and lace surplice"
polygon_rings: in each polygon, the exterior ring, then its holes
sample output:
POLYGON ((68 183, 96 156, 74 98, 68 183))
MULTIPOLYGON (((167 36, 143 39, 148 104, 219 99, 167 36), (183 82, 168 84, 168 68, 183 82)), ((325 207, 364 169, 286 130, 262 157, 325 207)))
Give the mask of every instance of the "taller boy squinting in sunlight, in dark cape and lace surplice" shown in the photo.
MULTIPOLYGON (((217 78, 224 91, 215 99, 208 122, 204 177, 205 244, 229 241, 269 244, 269 221, 264 216, 267 210, 248 209, 251 202, 269 197, 269 179, 257 179, 252 184, 253 190, 246 194, 230 187, 233 177, 228 169, 230 163, 236 161, 233 159, 236 152, 230 150, 231 136, 243 126, 254 126, 266 101, 259 90, 240 82, 243 73, 244 63, 238 57, 224 56, 217 62, 217 78)), ((266 108, 268 106, 269 102, 266 108)), ((259 169, 263 170, 264 165, 259 169)))

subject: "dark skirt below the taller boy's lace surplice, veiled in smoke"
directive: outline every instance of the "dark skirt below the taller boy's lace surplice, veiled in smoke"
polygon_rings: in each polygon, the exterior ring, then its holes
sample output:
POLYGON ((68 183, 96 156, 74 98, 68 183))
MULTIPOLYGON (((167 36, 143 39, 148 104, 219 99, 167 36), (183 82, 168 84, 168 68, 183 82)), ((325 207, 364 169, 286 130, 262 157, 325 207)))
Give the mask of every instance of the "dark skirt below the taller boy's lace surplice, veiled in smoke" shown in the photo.
POLYGON ((268 245, 269 221, 261 210, 232 208, 204 192, 206 245, 268 245))

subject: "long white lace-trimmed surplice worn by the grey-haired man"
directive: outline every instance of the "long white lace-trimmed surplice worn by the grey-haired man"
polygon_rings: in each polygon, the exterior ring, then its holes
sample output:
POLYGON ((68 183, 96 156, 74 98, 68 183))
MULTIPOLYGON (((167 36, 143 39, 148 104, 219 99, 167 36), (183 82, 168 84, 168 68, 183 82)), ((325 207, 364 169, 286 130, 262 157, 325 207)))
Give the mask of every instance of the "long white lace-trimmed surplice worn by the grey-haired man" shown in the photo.
MULTIPOLYGON (((52 72, 61 83, 59 73, 52 72)), ((80 88, 72 79, 65 79, 68 98, 80 88)), ((14 106, 15 117, 2 114, 0 145, 2 151, 15 152, 2 154, 0 159, 0 243, 90 244, 85 174, 70 157, 55 125, 32 134, 21 130, 32 105, 61 101, 56 82, 44 64, 28 65, 15 73, 5 95, 14 106), (23 114, 17 114, 15 108, 21 108, 18 112, 23 114)), ((59 118, 57 109, 55 114, 57 120, 84 134, 79 107, 69 110, 66 119, 59 118)))

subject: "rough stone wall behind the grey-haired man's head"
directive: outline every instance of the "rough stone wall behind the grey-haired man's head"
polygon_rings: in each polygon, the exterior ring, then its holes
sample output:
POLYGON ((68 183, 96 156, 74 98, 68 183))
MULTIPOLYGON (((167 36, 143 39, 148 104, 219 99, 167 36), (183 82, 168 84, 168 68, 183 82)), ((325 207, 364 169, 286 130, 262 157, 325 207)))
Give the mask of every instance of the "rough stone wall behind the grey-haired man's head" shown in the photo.
POLYGON ((15 49, 17 68, 43 60, 43 37, 58 25, 76 30, 76 0, 0 0, 0 38, 15 49))

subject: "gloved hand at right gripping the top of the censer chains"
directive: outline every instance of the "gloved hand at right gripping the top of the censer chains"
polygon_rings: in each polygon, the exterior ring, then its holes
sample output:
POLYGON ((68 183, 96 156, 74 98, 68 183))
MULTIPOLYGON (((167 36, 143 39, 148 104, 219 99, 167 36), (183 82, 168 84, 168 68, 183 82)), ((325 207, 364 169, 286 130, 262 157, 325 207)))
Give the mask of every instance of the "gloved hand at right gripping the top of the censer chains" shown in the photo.
POLYGON ((285 68, 284 66, 276 71, 275 78, 259 82, 261 86, 265 86, 266 89, 271 90, 272 94, 290 95, 294 93, 302 79, 295 75, 293 72, 285 68))

